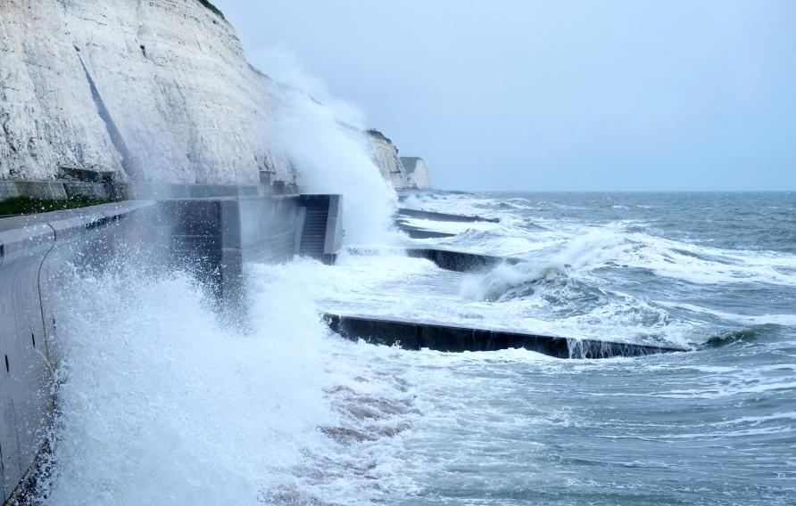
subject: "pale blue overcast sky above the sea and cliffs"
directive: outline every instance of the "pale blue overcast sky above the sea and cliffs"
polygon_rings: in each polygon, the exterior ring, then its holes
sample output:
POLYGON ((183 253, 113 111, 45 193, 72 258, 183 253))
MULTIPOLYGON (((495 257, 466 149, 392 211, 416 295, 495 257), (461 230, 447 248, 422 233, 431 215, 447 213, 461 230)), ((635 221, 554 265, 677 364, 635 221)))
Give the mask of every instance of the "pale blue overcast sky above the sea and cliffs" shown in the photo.
POLYGON ((437 188, 796 190, 796 1, 214 3, 437 188))

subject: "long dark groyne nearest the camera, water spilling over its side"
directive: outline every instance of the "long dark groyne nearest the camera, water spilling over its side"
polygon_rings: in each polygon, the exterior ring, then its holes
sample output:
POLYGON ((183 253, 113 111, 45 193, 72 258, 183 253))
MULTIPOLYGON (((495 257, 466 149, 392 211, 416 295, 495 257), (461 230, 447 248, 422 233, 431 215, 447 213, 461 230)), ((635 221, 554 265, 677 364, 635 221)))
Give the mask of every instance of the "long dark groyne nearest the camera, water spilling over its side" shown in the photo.
POLYGON ((568 339, 363 316, 324 314, 323 317, 329 328, 345 339, 364 339, 372 344, 397 345, 410 350, 429 348, 444 352, 463 352, 524 348, 556 358, 576 359, 688 351, 685 348, 672 346, 658 347, 597 339, 568 339))

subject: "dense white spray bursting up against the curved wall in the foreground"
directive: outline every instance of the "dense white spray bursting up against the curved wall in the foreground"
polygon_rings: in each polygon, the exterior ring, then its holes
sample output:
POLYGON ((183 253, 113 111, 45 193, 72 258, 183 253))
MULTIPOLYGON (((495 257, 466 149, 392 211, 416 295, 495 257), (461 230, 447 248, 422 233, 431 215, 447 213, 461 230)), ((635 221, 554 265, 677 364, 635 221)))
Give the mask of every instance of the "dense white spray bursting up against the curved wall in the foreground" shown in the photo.
POLYGON ((46 503, 254 503, 290 479, 303 448, 324 444, 314 427, 334 413, 311 312, 291 320, 290 341, 273 339, 280 319, 274 335, 243 335, 186 275, 121 273, 72 283, 58 316, 46 503))

